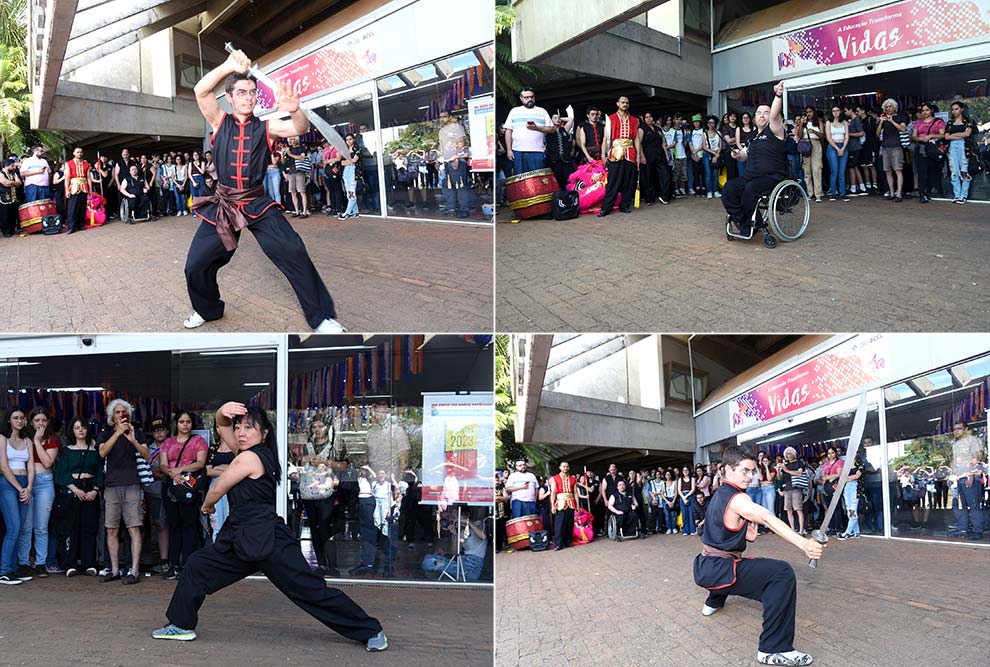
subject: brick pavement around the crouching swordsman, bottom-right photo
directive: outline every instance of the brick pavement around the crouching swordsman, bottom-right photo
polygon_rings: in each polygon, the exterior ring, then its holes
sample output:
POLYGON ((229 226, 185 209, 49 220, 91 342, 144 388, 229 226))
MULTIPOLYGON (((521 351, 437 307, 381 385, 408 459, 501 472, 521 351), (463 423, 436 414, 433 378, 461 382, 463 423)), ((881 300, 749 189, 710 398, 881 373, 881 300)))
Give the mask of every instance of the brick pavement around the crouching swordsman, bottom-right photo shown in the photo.
MULTIPOLYGON (((696 538, 600 539, 495 558, 496 667, 756 665, 760 605, 730 597, 703 617, 696 538)), ((776 536, 747 553, 798 581, 795 647, 823 667, 987 664, 990 553, 864 538, 830 541, 817 570, 776 536)))

